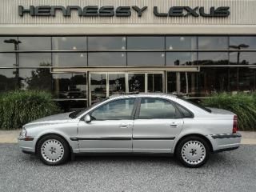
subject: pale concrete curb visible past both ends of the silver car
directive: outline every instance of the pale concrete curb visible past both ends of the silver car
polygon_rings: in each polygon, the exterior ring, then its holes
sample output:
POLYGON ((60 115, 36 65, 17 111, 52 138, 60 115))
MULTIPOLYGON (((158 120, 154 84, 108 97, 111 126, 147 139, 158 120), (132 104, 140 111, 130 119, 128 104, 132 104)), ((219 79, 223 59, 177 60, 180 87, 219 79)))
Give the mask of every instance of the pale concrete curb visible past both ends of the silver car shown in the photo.
MULTIPOLYGON (((0 143, 17 143, 21 130, 0 130, 0 143)), ((256 132, 239 131, 242 134, 242 144, 256 145, 256 132)))

